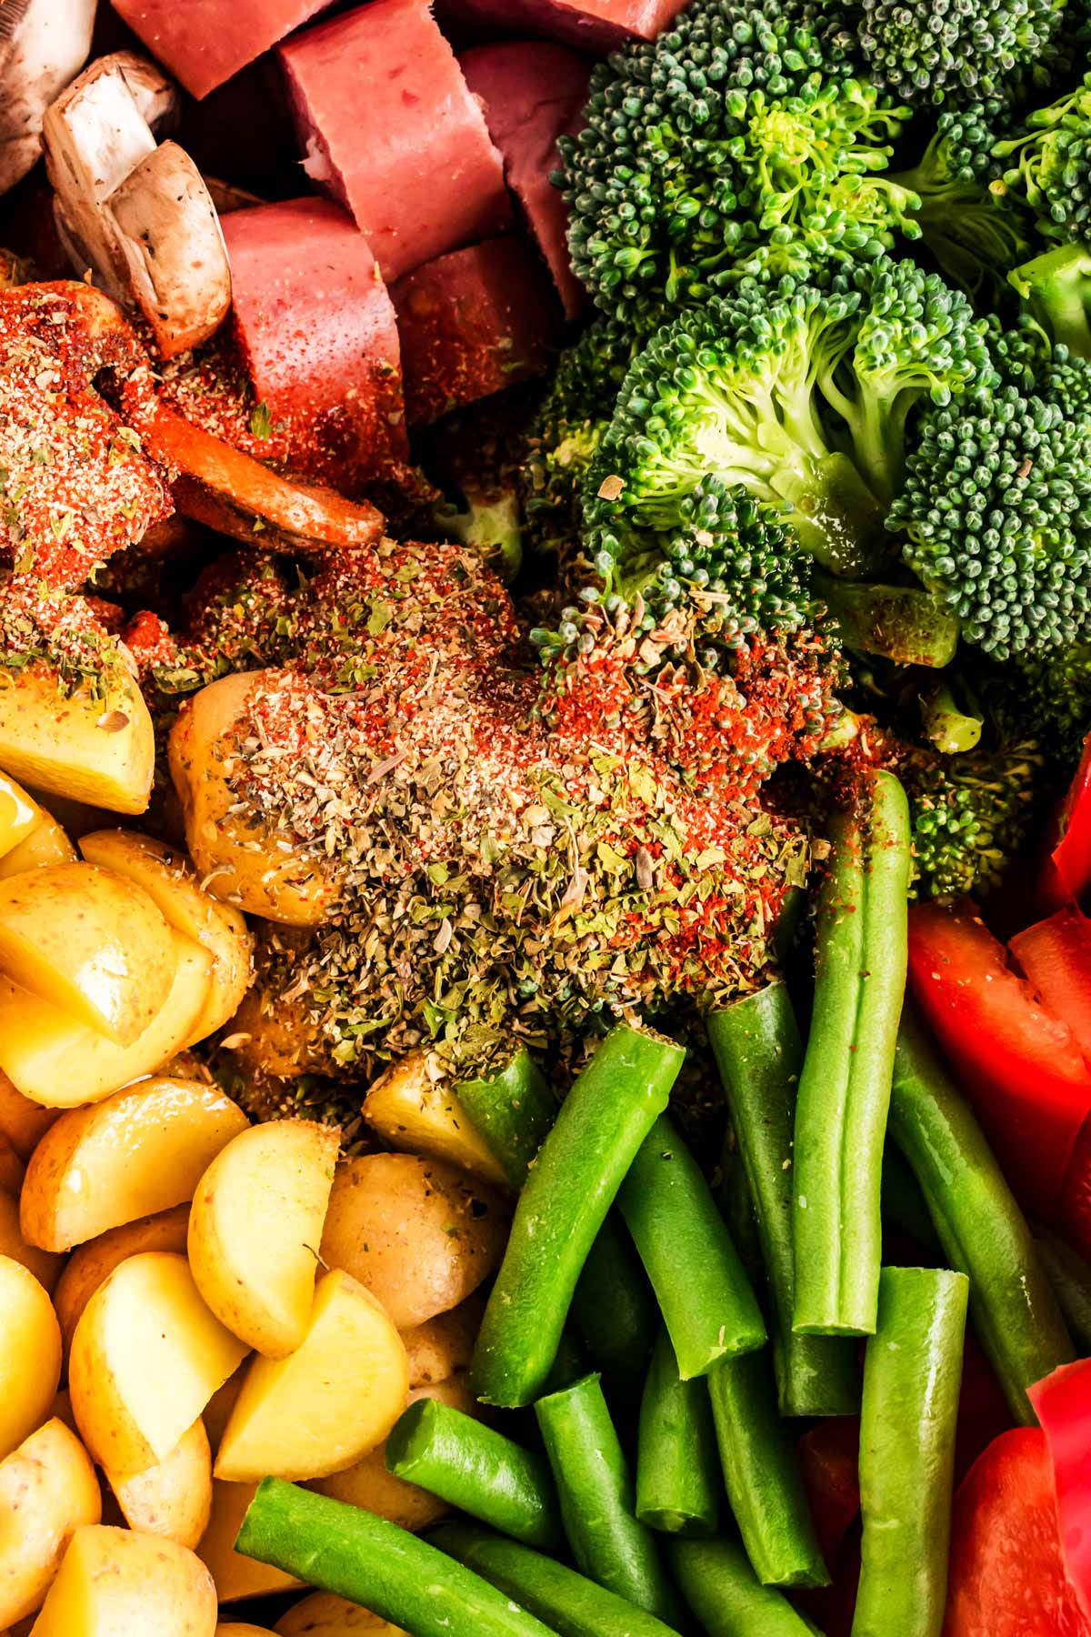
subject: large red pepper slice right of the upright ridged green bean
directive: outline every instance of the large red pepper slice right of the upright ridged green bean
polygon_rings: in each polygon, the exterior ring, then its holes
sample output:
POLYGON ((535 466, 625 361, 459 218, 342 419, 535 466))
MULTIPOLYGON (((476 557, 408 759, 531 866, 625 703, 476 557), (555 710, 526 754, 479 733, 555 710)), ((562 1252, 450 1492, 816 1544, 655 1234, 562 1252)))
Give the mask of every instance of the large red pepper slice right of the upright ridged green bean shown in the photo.
POLYGON ((909 913, 909 987, 1019 1200, 1053 1220, 1091 1069, 1070 1026, 965 910, 909 913))

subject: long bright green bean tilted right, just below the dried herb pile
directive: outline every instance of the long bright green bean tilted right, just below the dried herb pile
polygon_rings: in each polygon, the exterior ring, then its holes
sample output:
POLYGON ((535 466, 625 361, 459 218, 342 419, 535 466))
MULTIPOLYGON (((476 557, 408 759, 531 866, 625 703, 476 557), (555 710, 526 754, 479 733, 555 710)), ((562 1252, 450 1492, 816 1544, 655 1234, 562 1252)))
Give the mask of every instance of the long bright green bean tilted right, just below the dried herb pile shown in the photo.
POLYGON ((469 1377, 483 1403, 517 1408, 541 1391, 587 1252, 684 1056, 661 1035, 613 1028, 561 1103, 481 1321, 469 1377))

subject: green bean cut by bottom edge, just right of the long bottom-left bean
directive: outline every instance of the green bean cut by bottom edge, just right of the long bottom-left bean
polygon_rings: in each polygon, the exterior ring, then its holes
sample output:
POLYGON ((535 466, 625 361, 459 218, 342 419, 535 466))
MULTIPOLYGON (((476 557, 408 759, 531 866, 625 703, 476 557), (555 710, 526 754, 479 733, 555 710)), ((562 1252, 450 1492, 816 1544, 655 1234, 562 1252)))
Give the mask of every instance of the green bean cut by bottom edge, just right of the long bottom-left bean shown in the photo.
MULTIPOLYGON (((615 1591, 478 1524, 440 1524, 432 1540, 440 1552, 530 1609, 558 1637, 677 1637, 677 1627, 635 1609, 615 1591)), ((478 1637, 478 1632, 466 1629, 466 1637, 478 1637)))

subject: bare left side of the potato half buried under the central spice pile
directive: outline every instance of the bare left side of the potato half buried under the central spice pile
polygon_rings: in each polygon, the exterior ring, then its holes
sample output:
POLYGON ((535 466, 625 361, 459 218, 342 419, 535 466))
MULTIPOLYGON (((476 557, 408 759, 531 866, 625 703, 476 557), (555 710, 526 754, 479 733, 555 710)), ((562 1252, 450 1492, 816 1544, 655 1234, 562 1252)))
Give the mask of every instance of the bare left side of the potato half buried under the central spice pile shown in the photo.
POLYGON ((339 873, 286 850, 276 832, 245 828, 232 812, 250 701, 275 686, 275 671, 239 671, 186 701, 170 730, 170 776, 190 855, 213 897, 290 927, 321 927, 337 902, 339 873))

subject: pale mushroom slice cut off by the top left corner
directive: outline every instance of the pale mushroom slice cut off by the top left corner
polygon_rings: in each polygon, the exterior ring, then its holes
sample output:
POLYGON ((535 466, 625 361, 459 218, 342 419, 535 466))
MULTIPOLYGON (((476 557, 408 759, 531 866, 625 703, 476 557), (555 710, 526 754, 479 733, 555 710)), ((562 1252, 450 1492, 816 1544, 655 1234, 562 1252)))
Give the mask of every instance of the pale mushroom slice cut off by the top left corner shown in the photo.
POLYGON ((0 0, 0 193, 41 154, 43 115, 92 49, 95 0, 0 0))

